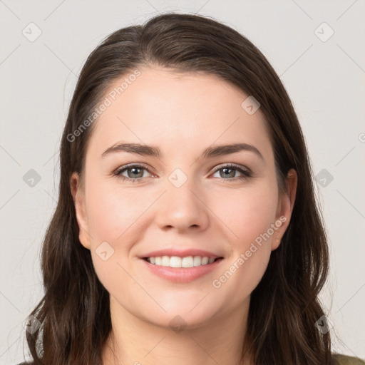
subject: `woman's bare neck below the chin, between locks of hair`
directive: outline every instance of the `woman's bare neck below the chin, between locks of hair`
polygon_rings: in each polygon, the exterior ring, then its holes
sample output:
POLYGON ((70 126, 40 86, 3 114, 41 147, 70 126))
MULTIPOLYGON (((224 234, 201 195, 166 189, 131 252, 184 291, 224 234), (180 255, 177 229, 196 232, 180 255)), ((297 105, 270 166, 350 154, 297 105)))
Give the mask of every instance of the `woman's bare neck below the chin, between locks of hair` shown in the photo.
POLYGON ((247 356, 241 361, 249 303, 250 298, 235 311, 222 311, 199 325, 175 317, 163 326, 135 317, 110 296, 112 331, 103 364, 253 365, 247 356))

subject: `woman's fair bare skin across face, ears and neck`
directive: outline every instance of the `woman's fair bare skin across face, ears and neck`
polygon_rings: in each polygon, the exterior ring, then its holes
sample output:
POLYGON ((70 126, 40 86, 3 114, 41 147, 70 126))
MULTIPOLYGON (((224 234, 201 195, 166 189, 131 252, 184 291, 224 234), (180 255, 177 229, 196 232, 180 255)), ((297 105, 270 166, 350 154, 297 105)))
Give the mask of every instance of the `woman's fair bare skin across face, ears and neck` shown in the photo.
MULTIPOLYGON (((140 71, 94 122, 85 185, 78 184, 76 173, 71 178, 80 242, 91 250, 96 274, 110 293, 113 330, 104 364, 240 364, 250 294, 289 225, 297 174, 289 171, 289 193, 279 195, 264 116, 241 107, 248 95, 240 89, 211 75, 140 71), (121 140, 158 146, 162 156, 120 152, 101 158, 121 140), (226 143, 254 145, 264 160, 250 151, 200 158, 210 145, 226 143), (147 165, 151 173, 124 171, 125 177, 140 179, 136 183, 113 175, 130 163, 147 165), (214 172, 226 163, 253 175, 237 180, 238 170, 228 177, 224 170, 214 172), (187 176, 181 187, 168 180, 176 168, 187 176), (213 287, 212 281, 282 216, 286 222, 227 282, 213 287), (105 241, 114 253, 103 261, 96 249, 105 241), (193 282, 173 283, 150 274, 138 258, 170 247, 220 252, 225 259, 220 269, 193 282), (170 328, 175 316, 185 322, 183 331, 170 328)), ((253 365, 249 356, 246 364, 253 365)))

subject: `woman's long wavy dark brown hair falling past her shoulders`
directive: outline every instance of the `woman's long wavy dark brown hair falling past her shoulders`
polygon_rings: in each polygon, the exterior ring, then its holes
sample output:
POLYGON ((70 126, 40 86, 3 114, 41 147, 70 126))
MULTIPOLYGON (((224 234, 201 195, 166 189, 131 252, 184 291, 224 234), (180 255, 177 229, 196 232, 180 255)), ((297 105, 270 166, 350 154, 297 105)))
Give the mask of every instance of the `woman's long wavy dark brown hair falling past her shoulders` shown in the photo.
POLYGON ((251 294, 242 358, 249 351, 255 365, 331 364, 329 332, 322 334, 315 326, 324 315, 318 294, 329 269, 327 236, 289 96, 245 36, 209 17, 177 13, 110 34, 78 78, 61 140, 58 205, 43 241, 45 294, 31 312, 41 327, 26 334, 34 364, 102 364, 101 351, 111 330, 109 294, 96 276, 90 251, 78 239, 70 178, 73 172, 83 177, 86 145, 96 124, 90 115, 110 84, 153 65, 220 76, 253 96, 269 130, 280 192, 285 192, 288 170, 297 171, 289 227, 251 294), (87 128, 81 130, 82 125, 87 128))

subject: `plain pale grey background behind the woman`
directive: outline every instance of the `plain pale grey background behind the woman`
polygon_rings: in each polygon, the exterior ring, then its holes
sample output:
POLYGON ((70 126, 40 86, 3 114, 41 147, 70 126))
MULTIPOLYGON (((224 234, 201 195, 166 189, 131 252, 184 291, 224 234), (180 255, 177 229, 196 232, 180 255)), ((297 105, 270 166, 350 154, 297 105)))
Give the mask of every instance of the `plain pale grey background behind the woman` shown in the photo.
POLYGON ((27 353, 23 323, 42 295, 39 253, 76 76, 112 31, 169 10, 237 29, 282 79, 318 176, 331 249, 321 298, 334 351, 365 358, 364 1, 0 0, 0 364, 27 353))

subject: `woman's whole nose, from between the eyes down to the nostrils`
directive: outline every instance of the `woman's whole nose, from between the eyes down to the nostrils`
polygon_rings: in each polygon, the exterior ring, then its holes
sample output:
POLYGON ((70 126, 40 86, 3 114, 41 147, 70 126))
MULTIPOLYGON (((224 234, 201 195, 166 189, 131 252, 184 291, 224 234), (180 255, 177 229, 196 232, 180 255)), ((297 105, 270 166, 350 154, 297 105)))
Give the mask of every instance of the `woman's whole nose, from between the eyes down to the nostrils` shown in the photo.
POLYGON ((158 204, 156 220, 166 226, 184 230, 192 226, 205 227, 208 222, 207 208, 203 204, 195 179, 177 168, 168 176, 165 194, 158 204))

